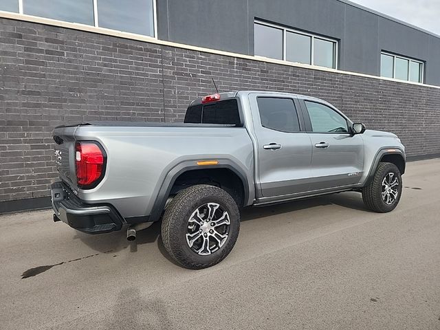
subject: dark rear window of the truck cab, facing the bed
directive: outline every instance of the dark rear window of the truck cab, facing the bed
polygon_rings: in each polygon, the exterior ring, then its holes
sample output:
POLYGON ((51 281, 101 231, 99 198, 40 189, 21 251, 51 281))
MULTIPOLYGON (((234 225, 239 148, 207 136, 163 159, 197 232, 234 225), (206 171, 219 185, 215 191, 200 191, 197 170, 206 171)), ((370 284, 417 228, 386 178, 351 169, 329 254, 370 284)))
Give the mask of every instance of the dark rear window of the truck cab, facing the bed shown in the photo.
POLYGON ((240 126, 239 105, 236 99, 193 105, 186 110, 184 122, 192 124, 234 124, 240 126))

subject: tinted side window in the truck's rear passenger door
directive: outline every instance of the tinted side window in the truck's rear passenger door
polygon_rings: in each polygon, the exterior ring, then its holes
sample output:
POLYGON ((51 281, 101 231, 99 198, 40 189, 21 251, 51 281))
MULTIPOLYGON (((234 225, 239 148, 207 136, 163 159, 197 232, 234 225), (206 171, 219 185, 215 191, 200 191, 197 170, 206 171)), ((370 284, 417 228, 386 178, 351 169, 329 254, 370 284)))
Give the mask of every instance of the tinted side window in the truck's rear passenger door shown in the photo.
POLYGON ((257 98, 256 102, 259 104, 261 125, 266 129, 288 133, 300 131, 292 98, 257 98))

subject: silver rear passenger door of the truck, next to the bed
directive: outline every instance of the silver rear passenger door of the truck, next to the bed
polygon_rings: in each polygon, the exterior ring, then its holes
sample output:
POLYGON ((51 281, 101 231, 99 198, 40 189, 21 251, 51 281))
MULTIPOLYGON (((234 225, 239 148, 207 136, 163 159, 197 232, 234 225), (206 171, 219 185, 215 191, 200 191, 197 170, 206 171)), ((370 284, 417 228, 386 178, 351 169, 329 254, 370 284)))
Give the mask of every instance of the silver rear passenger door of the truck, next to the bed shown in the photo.
POLYGON ((308 190, 311 142, 298 100, 287 94, 250 94, 262 197, 308 190))

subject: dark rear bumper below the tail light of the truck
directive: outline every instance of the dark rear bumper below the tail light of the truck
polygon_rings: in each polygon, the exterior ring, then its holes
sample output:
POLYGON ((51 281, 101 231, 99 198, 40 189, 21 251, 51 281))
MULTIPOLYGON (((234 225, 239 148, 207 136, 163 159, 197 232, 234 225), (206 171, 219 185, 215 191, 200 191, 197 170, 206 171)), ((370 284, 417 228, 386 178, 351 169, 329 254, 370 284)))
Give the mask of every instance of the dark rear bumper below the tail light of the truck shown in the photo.
POLYGON ((103 234, 121 230, 124 219, 110 205, 84 203, 62 182, 52 184, 54 221, 63 221, 87 234, 103 234))

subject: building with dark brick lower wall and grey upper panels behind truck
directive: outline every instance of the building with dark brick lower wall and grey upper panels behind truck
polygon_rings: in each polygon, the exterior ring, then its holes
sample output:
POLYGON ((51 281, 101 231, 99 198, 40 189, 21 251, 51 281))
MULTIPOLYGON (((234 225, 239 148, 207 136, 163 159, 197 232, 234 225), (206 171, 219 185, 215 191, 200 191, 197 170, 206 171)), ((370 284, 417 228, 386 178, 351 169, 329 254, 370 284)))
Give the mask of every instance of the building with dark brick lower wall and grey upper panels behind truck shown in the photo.
POLYGON ((397 133, 412 159, 440 155, 440 37, 349 1, 3 0, 0 10, 0 212, 50 205, 54 126, 180 121, 211 78, 221 91, 323 98, 397 133))

